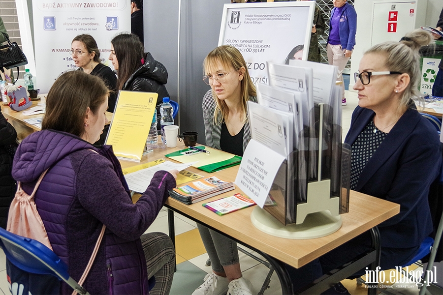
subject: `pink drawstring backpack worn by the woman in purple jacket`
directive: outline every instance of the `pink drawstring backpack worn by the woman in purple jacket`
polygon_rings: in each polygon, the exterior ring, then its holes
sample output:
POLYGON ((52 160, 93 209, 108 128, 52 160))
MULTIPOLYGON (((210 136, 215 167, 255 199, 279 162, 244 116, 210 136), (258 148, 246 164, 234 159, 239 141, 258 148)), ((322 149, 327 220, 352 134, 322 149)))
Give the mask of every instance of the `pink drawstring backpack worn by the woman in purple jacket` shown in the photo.
MULTIPOLYGON (((96 152, 95 150, 93 151, 96 152)), ((40 214, 37 211, 37 206, 34 202, 35 192, 37 191, 37 188, 40 185, 46 172, 48 172, 48 170, 44 171, 38 178, 31 195, 28 195, 22 189, 20 181, 18 182, 17 192, 15 193, 15 197, 12 200, 11 207, 9 207, 8 225, 6 227, 6 230, 19 236, 24 236, 37 240, 52 251, 54 251, 49 241, 48 234, 46 233, 43 220, 41 219, 40 214)), ((100 246, 105 229, 106 226, 103 224, 100 235, 98 236, 97 242, 95 243, 95 248, 93 250, 91 258, 89 259, 88 265, 86 266, 85 271, 78 281, 80 286, 85 282, 89 270, 94 263, 95 256, 98 252, 98 247, 100 246)), ((8 281, 11 284, 12 294, 14 295, 49 295, 60 293, 60 281, 53 275, 29 273, 21 270, 17 266, 14 266, 8 260, 6 261, 6 273, 8 281)), ((77 294, 77 291, 74 290, 74 292, 72 292, 72 295, 75 294, 77 294)))

